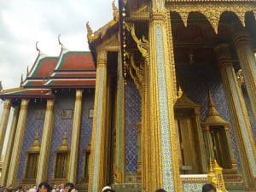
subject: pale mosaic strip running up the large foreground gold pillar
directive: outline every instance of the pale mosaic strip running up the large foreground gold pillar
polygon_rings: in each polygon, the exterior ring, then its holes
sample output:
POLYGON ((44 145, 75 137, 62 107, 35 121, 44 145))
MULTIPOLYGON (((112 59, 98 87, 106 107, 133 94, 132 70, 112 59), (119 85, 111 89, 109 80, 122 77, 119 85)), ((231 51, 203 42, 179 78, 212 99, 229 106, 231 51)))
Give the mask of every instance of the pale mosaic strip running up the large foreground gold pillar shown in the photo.
POLYGON ((166 70, 163 47, 163 34, 161 26, 155 26, 155 45, 156 45, 156 65, 157 65, 157 84, 159 88, 159 113, 160 113, 160 147, 163 172, 163 187, 166 191, 175 191, 173 168, 172 168, 172 143, 170 138, 170 124, 168 113, 168 102, 166 93, 166 70))

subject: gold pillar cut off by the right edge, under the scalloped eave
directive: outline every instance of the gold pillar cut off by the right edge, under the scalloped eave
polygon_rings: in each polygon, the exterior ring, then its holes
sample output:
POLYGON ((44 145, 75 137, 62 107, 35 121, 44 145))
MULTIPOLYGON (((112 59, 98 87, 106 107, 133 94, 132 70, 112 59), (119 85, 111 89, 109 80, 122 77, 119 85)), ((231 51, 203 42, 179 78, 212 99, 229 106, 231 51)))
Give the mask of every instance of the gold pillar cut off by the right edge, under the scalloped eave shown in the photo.
POLYGON ((236 32, 233 41, 253 109, 254 121, 256 122, 256 61, 252 39, 249 38, 246 32, 236 32))

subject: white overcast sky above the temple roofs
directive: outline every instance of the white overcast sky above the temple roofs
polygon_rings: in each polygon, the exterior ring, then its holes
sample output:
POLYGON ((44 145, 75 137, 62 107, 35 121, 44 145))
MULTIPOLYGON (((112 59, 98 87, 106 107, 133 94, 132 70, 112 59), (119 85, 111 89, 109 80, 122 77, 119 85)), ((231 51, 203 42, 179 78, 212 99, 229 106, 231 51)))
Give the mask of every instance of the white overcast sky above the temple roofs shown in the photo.
MULTIPOLYGON (((39 49, 47 55, 59 55, 58 34, 67 49, 89 50, 86 22, 90 21, 91 28, 96 31, 112 18, 112 0, 0 0, 0 81, 3 89, 20 86, 20 75, 25 77, 26 67, 31 68, 38 55, 37 41, 39 49)), ((0 124, 2 105, 3 101, 0 102, 0 124)))

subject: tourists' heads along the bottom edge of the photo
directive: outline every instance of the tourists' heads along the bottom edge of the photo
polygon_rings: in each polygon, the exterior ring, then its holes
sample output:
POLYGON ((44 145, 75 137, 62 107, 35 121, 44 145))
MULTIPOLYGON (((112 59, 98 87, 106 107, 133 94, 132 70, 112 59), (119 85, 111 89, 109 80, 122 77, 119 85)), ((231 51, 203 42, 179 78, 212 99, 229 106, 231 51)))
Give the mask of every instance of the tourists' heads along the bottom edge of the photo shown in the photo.
MULTIPOLYGON (((26 189, 26 187, 19 185, 16 189, 9 186, 3 187, 0 186, 0 192, 78 192, 75 189, 73 183, 63 183, 61 185, 54 185, 54 187, 50 186, 49 183, 43 182, 37 186, 32 186, 31 189, 26 189)), ((115 192, 111 187, 105 186, 102 189, 102 192, 115 192)), ((157 189, 155 192, 166 192, 165 189, 157 189)), ((212 184, 205 184, 202 187, 202 192, 216 192, 215 187, 212 184)))

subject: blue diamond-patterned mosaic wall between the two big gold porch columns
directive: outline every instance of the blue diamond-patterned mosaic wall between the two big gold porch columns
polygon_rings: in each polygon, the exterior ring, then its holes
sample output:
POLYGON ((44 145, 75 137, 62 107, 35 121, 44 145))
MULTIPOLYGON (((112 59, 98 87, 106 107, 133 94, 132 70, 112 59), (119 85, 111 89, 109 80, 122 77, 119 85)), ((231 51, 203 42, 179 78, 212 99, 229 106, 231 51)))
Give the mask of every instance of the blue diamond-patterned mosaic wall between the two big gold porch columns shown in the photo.
POLYGON ((141 121, 141 96, 135 84, 125 85, 125 172, 137 172, 137 126, 141 121))

